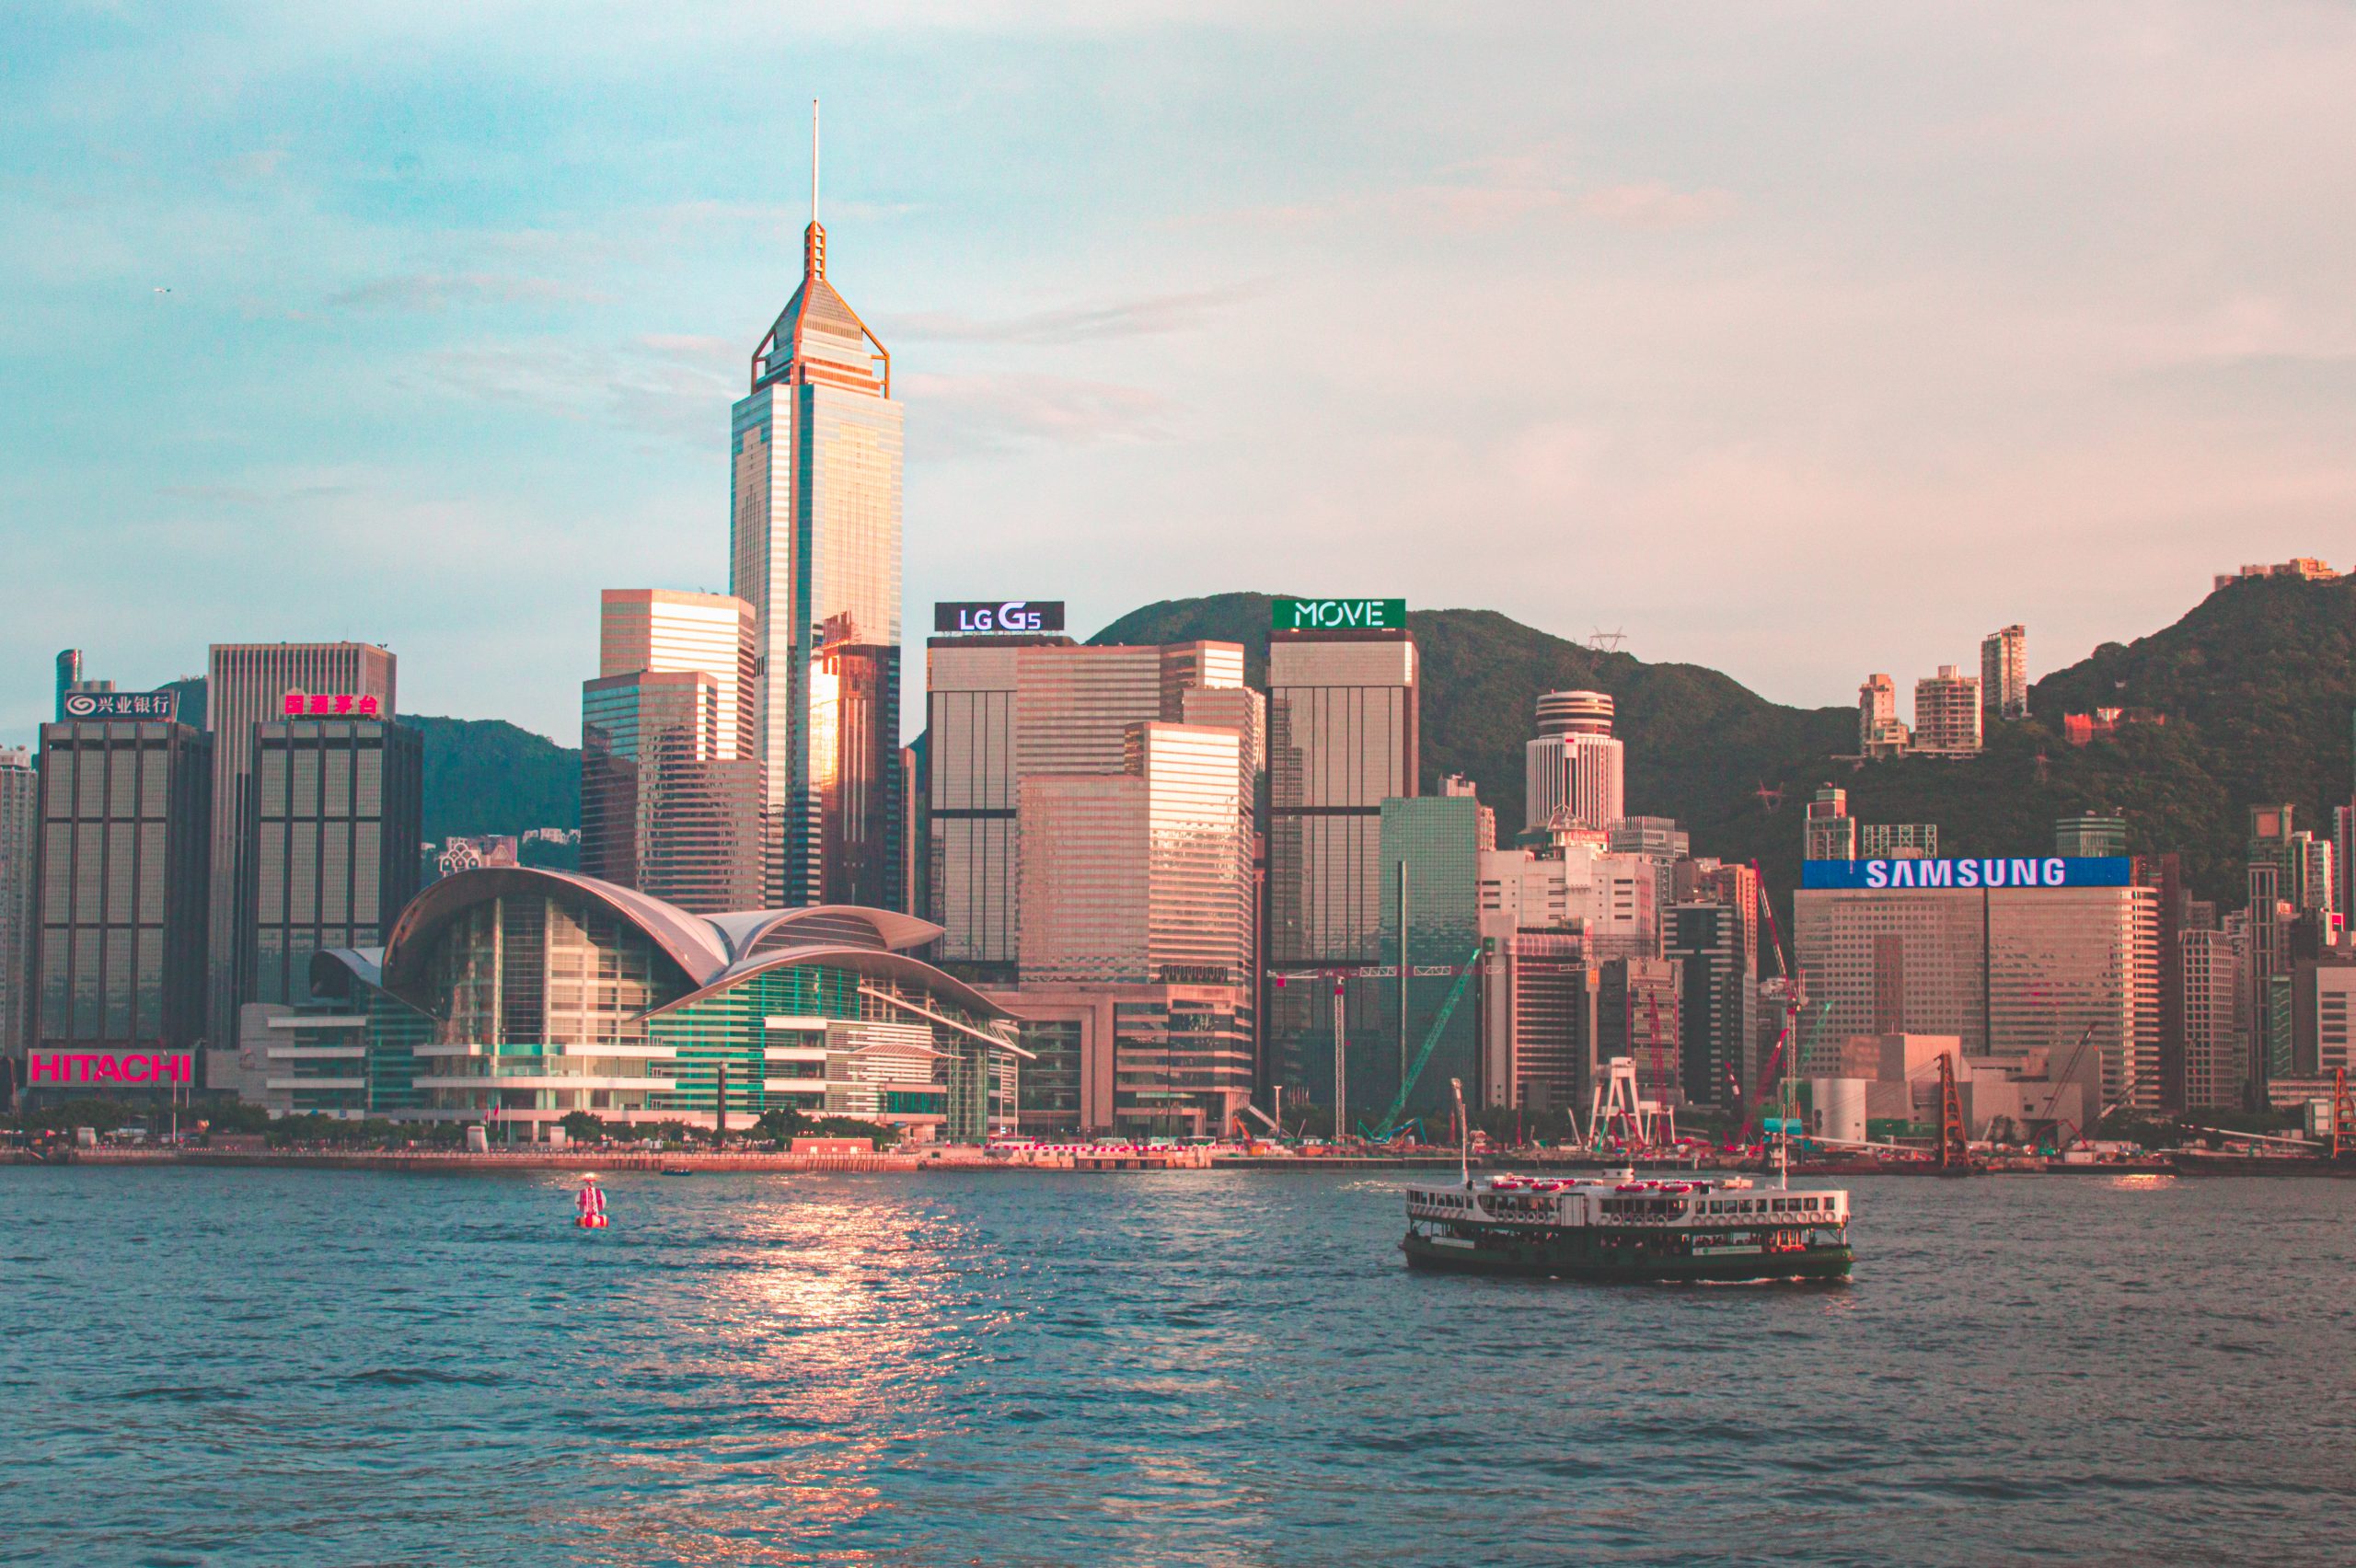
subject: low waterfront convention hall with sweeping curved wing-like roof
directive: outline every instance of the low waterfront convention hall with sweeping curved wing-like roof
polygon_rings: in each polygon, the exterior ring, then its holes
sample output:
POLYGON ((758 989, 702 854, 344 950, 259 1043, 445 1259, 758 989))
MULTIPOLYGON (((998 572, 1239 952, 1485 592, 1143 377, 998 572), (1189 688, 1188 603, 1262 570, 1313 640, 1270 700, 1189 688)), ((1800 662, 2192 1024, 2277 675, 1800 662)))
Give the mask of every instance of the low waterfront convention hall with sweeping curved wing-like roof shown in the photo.
POLYGON ((1013 1125, 1023 1052, 1004 1008, 909 954, 938 935, 881 909, 695 916, 565 871, 459 871, 384 949, 316 961, 318 1001, 278 1019, 292 1107, 492 1125, 792 1107, 980 1142, 1013 1125))

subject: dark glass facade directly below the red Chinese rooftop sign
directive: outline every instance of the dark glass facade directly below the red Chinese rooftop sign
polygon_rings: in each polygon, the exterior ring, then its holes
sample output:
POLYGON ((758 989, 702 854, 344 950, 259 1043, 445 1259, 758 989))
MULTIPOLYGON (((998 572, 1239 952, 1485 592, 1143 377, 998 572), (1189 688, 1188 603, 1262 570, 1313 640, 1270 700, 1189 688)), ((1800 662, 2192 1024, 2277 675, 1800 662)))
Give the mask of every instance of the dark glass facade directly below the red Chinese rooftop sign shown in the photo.
POLYGON ((396 723, 271 720, 247 772, 238 984, 245 1001, 302 1003, 311 954, 382 946, 417 895, 424 746, 396 723))

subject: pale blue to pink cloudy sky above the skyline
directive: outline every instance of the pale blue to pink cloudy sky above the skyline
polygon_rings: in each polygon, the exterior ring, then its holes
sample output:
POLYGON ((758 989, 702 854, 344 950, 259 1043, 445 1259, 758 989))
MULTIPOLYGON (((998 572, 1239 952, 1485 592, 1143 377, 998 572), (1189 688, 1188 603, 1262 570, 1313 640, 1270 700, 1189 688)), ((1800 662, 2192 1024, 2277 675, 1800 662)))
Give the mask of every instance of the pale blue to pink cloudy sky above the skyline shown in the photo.
MULTIPOLYGON (((0 739, 52 655, 386 643, 573 744, 608 586, 726 589, 829 275, 905 636, 1475 605, 1793 704, 2245 560, 2347 570, 2356 9, 2175 0, 9 7, 0 739)), ((1904 709, 1904 704, 1901 704, 1904 709)), ((914 704, 912 704, 914 711, 914 704)))

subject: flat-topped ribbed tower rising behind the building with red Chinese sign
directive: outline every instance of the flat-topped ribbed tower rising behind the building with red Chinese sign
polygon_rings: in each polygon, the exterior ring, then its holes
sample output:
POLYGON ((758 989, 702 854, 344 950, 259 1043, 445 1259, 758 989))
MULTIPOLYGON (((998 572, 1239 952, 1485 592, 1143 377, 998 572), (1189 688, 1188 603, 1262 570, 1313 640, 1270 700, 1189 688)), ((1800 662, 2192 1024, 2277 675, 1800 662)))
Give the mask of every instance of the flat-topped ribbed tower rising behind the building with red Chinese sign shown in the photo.
POLYGON ((214 643, 205 676, 212 730, 212 911, 205 930, 207 1026, 217 1048, 238 1038, 240 932, 254 923, 247 899, 245 822, 254 768, 254 725, 273 718, 393 716, 393 655, 370 643, 214 643), (299 702, 297 702, 299 699, 299 702))

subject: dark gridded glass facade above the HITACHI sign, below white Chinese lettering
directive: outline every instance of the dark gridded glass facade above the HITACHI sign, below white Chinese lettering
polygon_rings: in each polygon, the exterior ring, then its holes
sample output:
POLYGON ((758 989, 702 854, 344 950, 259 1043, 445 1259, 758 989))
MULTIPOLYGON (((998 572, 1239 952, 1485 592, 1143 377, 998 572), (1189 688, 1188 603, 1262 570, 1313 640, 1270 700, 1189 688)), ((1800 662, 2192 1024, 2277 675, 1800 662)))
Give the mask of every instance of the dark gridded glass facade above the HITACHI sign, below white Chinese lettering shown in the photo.
POLYGON ((205 1036, 212 739, 40 727, 33 1043, 188 1050, 205 1036))

